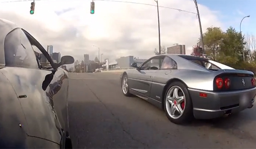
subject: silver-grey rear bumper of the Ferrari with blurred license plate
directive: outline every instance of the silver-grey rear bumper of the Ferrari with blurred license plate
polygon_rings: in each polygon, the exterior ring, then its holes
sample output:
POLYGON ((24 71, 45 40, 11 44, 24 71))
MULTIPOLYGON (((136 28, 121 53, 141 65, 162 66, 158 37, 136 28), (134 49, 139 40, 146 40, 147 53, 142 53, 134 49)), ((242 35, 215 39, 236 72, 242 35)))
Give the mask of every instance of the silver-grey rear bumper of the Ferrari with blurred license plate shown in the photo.
POLYGON ((247 109, 254 103, 256 87, 239 91, 214 92, 188 88, 196 119, 213 119, 223 116, 227 111, 236 113, 247 109), (200 97, 206 93, 207 97, 200 97))

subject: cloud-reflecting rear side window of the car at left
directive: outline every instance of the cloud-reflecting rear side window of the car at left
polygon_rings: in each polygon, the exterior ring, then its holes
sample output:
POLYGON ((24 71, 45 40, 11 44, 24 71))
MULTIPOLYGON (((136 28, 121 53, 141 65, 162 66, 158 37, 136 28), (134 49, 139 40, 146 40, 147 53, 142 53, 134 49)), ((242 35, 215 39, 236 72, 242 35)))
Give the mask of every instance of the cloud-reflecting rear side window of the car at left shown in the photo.
POLYGON ((38 68, 34 50, 21 29, 10 32, 4 40, 6 66, 38 68))

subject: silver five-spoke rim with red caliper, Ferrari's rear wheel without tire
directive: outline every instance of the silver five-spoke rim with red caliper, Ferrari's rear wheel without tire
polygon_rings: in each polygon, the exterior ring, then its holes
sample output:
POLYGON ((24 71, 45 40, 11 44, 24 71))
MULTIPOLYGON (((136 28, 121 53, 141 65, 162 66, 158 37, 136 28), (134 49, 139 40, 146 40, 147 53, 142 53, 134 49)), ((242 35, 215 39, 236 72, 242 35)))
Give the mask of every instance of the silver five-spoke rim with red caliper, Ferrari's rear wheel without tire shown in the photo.
POLYGON ((174 85, 170 87, 166 94, 166 111, 172 119, 179 119, 184 113, 186 104, 185 93, 181 87, 174 85))

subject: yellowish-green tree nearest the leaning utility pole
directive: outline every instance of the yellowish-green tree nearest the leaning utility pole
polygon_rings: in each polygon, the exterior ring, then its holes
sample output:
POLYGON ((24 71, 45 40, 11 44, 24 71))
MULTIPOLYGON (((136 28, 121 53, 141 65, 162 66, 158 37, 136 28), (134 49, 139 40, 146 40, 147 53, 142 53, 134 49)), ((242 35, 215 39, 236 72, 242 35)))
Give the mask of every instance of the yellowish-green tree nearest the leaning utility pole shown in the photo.
POLYGON ((221 28, 210 27, 206 29, 203 38, 204 49, 206 50, 205 52, 207 54, 211 54, 213 60, 215 60, 224 38, 224 32, 221 30, 221 28))

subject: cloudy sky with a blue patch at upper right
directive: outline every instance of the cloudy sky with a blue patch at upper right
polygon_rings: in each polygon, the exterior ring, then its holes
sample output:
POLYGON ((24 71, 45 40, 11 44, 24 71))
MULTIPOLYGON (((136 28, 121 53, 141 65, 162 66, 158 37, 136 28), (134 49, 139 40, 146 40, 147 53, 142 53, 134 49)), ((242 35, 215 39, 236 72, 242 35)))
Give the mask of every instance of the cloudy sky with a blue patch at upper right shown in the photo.
MULTIPOLYGON (((30 1, 0 0, 0 18, 15 22, 45 48, 83 60, 98 57, 114 61, 121 56, 149 58, 158 48, 156 6, 94 0, 95 14, 90 14, 90 0, 36 0, 35 12, 30 1), (5 2, 8 1, 8 2, 5 2), (96 47, 98 48, 96 48, 96 47)), ((156 5, 154 0, 119 0, 156 5)), ((193 0, 158 0, 159 6, 196 12, 193 0)), ((211 26, 239 30, 244 16, 254 14, 255 0, 198 0, 203 32, 211 26)), ((186 45, 192 52, 200 36, 196 14, 159 8, 161 46, 186 45)), ((242 32, 254 34, 254 16, 244 19, 242 32)), ((101 59, 101 58, 100 58, 101 59)))

